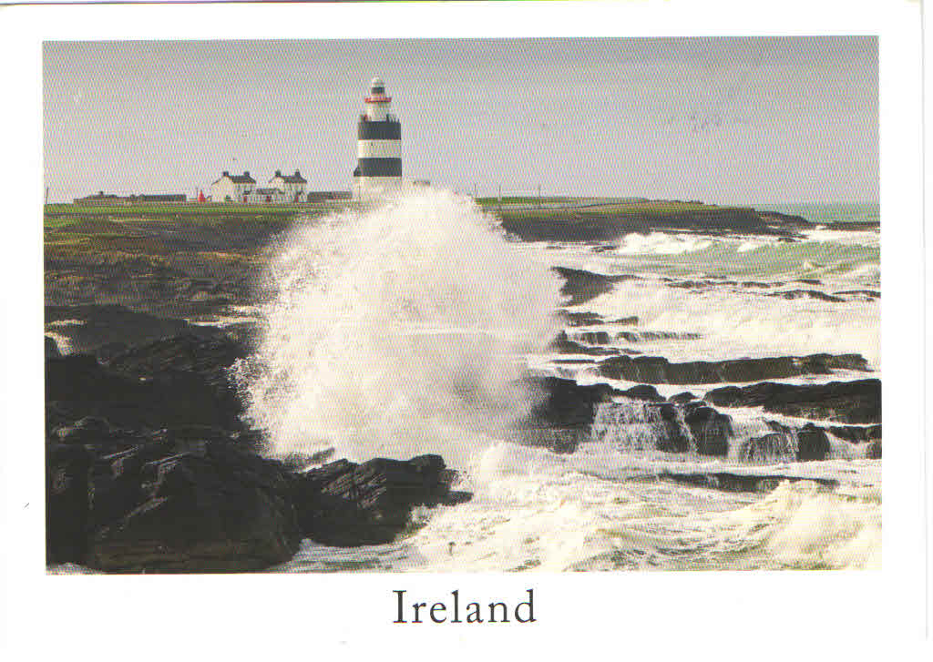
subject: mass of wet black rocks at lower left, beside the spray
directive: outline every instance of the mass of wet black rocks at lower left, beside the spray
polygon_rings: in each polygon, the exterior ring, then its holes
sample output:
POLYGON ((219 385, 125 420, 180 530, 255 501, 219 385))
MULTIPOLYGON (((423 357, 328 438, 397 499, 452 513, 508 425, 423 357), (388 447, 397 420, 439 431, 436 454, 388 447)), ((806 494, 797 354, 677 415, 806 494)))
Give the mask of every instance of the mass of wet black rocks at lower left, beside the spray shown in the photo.
POLYGON ((391 542, 418 505, 463 503, 438 455, 307 472, 258 454, 223 379, 230 338, 162 339, 106 364, 46 360, 47 563, 105 572, 246 572, 300 541, 391 542))

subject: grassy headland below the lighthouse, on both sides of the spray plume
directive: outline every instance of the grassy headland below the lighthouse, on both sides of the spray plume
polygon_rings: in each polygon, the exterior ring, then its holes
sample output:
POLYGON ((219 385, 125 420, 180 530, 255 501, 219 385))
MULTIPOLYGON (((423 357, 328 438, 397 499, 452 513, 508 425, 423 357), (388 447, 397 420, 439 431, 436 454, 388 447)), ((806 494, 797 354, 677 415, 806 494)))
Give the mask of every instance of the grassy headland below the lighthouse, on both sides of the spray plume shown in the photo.
MULTIPOLYGON (((478 204, 523 241, 615 241, 660 230, 792 235, 803 219, 696 201, 485 198, 478 204)), ((49 204, 48 305, 121 304, 173 317, 212 315, 261 298, 276 235, 298 216, 354 203, 49 204)), ((801 225, 801 223, 803 225, 801 225)))

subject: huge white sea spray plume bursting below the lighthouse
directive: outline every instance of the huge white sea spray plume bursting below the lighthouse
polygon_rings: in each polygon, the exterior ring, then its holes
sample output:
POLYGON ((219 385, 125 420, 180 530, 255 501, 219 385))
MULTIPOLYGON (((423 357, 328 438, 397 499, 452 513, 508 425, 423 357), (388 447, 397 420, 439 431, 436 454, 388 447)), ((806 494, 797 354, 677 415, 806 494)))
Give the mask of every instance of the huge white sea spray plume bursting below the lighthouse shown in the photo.
POLYGON ((521 353, 554 333, 561 283, 473 200, 426 190, 307 221, 268 278, 258 351, 234 376, 273 456, 465 466, 534 404, 521 353))

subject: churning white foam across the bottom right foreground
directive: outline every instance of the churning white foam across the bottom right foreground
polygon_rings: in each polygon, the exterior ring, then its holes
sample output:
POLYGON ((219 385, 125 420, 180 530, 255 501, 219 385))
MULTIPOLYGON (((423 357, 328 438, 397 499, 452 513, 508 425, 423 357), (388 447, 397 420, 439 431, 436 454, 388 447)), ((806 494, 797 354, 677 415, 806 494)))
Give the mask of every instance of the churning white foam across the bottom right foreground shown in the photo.
POLYGON ((659 472, 834 476, 877 481, 880 462, 738 466, 663 460, 585 444, 573 455, 500 442, 476 461, 469 503, 420 510, 391 545, 343 550, 305 542, 284 570, 411 572, 535 569, 863 568, 881 558, 880 489, 785 483, 771 494, 689 488, 659 472), (820 466, 811 466, 820 465, 820 466))

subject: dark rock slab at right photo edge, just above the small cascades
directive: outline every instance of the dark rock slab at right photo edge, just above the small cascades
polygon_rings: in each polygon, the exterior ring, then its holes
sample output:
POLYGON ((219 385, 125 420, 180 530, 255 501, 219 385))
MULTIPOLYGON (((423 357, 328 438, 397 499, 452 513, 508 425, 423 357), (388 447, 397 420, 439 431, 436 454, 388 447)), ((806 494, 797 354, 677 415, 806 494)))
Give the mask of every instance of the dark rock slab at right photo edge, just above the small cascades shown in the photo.
POLYGON ((703 399, 717 407, 764 407, 787 416, 842 423, 881 422, 881 380, 832 381, 828 384, 726 386, 703 399))

